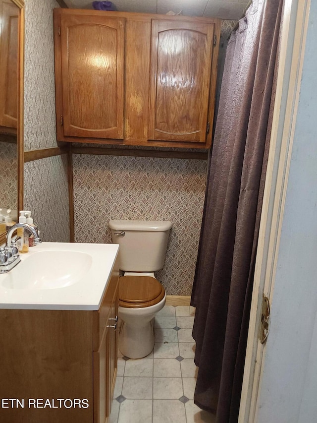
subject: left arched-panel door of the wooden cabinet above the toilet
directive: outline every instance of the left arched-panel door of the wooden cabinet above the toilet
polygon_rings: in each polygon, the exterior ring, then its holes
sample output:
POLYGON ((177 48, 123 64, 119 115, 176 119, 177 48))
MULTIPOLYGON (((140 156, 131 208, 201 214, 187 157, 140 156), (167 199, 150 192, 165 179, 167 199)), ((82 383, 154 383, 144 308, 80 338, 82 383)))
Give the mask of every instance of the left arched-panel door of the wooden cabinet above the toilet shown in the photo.
POLYGON ((61 15, 66 136, 123 138, 124 18, 61 15))

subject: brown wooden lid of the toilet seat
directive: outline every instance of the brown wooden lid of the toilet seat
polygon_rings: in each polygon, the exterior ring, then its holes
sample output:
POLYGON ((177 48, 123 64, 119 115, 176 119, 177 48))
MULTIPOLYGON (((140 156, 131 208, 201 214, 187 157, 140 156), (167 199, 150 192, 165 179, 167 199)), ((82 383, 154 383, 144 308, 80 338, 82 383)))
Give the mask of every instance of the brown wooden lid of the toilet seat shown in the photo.
POLYGON ((122 276, 119 278, 119 305, 127 308, 149 307, 160 302, 165 290, 151 276, 122 276))

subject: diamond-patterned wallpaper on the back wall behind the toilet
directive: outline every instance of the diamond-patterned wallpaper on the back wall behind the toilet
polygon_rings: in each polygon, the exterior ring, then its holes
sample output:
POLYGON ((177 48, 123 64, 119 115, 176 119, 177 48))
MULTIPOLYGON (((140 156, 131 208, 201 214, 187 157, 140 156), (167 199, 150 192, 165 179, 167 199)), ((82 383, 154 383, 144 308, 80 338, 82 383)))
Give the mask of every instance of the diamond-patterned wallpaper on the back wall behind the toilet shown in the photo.
POLYGON ((168 295, 190 295, 204 207, 204 160, 73 155, 75 242, 111 242, 110 219, 171 220, 168 295))

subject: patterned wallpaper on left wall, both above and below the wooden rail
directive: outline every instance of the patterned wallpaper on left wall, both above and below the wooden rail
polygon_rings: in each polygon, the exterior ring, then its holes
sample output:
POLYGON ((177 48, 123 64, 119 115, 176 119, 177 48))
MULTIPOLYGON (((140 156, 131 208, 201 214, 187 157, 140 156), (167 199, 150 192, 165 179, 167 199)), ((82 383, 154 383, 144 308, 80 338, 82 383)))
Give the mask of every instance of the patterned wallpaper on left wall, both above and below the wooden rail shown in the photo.
MULTIPOLYGON (((24 150, 56 147, 53 7, 55 0, 25 2, 24 150)), ((24 164, 24 208, 43 241, 69 242, 67 158, 24 164)))

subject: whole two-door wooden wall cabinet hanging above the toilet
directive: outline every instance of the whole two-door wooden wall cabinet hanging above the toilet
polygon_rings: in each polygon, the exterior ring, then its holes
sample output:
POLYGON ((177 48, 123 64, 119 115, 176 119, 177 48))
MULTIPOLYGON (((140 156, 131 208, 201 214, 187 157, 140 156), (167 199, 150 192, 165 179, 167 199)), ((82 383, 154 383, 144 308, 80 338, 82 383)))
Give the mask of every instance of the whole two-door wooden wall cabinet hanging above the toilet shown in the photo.
POLYGON ((220 20, 54 9, 58 141, 209 148, 220 20))

